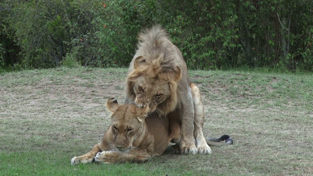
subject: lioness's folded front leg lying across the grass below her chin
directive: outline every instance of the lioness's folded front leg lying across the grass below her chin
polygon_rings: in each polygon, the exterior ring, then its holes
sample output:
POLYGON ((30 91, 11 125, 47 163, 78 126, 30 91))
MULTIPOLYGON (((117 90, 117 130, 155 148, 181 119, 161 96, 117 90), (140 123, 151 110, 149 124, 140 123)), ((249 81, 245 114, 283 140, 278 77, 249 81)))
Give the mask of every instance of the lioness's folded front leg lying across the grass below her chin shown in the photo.
POLYGON ((137 151, 136 154, 125 154, 117 151, 104 151, 96 154, 94 160, 103 163, 121 163, 121 162, 143 162, 151 158, 146 150, 137 151))

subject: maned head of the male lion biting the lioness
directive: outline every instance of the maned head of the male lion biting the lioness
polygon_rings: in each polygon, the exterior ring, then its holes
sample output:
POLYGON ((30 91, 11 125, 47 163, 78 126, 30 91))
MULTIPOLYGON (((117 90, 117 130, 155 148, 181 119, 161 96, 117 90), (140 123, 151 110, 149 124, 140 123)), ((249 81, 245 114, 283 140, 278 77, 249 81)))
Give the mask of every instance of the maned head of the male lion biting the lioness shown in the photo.
POLYGON ((127 77, 129 97, 138 107, 148 104, 150 112, 168 113, 177 105, 177 83, 181 78, 178 66, 164 65, 163 56, 147 63, 144 56, 134 60, 134 69, 127 77))

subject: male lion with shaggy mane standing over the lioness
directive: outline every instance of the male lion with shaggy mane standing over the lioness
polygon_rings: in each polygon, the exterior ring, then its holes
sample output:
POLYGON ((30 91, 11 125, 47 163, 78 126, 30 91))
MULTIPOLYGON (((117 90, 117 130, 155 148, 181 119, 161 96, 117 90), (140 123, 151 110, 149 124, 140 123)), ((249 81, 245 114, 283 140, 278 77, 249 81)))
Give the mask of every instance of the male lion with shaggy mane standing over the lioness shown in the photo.
POLYGON ((140 33, 138 39, 138 49, 126 80, 125 103, 134 102, 138 107, 148 103, 149 116, 178 113, 181 120, 180 153, 211 154, 202 132, 203 109, 201 112, 194 107, 187 66, 178 47, 159 26, 140 33))

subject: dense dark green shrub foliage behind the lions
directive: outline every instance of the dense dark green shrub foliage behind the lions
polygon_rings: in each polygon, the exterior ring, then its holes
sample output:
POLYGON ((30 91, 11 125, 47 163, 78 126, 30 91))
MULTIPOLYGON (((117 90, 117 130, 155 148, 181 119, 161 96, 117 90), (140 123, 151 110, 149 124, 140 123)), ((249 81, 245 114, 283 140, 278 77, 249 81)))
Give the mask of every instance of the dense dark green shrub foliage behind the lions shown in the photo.
POLYGON ((0 66, 128 66, 161 24, 191 69, 313 71, 310 0, 2 0, 0 66))

